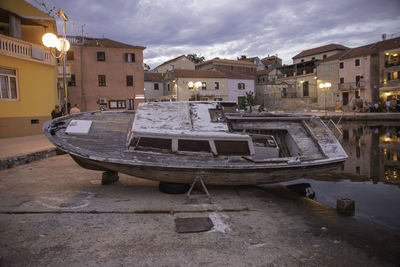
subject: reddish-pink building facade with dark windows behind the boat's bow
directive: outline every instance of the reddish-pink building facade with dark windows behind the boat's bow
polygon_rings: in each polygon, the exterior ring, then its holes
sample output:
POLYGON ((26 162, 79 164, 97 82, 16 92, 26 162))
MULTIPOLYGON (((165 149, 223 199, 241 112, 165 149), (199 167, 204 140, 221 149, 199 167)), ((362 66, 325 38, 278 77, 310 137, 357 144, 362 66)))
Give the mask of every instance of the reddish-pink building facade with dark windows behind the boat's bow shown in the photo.
POLYGON ((81 111, 136 109, 144 102, 143 50, 107 38, 68 37, 68 99, 81 111))

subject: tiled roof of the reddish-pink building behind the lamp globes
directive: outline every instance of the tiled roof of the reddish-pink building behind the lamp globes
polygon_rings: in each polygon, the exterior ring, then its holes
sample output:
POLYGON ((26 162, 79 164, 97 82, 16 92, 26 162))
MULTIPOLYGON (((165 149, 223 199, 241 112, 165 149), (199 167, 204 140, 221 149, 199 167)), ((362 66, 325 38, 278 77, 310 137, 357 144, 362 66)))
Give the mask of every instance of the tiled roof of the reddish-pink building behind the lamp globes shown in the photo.
POLYGON ((107 47, 107 48, 131 48, 131 49, 142 49, 142 50, 146 49, 146 47, 144 46, 129 45, 108 38, 67 36, 67 39, 71 42, 71 45, 83 45, 83 46, 95 46, 95 47, 107 47))

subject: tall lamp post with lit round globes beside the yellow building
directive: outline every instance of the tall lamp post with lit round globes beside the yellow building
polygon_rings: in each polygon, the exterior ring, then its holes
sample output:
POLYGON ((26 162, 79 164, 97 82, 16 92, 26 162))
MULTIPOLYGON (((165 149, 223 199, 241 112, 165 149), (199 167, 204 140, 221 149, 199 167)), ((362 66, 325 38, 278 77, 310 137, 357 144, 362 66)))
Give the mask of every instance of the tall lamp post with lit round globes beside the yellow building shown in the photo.
MULTIPOLYGON (((67 91, 67 79, 66 79, 66 66, 65 66, 65 58, 67 51, 70 48, 69 41, 67 40, 67 35, 66 35, 66 27, 65 24, 68 21, 67 15, 64 14, 62 10, 59 10, 57 13, 58 17, 63 18, 63 35, 60 38, 57 38, 57 36, 53 33, 46 33, 42 37, 42 42, 43 44, 48 47, 48 48, 53 48, 55 47, 60 54, 57 56, 56 54, 51 53, 55 58, 61 58, 63 57, 63 84, 64 84, 64 93, 65 93, 65 99, 64 99, 64 110, 66 114, 68 114, 68 91, 67 91)), ((51 50, 50 50, 51 51, 51 50)), ((60 100, 58 100, 60 102, 60 100)))

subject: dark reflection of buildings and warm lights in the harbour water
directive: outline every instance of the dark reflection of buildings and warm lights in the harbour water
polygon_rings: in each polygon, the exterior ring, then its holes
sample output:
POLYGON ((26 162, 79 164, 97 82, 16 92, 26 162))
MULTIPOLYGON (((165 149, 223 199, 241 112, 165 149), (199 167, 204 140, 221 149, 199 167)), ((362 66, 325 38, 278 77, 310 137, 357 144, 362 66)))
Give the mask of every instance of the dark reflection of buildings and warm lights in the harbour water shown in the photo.
POLYGON ((342 124, 343 148, 349 155, 342 172, 372 180, 400 185, 400 123, 342 124))

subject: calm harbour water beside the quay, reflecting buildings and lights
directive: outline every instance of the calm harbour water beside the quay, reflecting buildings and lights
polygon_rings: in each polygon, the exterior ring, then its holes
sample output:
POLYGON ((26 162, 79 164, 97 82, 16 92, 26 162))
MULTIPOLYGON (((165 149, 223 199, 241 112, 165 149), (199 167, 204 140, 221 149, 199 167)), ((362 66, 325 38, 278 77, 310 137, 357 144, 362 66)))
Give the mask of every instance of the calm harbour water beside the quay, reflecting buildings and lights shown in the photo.
POLYGON ((400 233, 400 122, 344 122, 341 128, 349 159, 341 170, 320 177, 338 180, 285 185, 310 183, 315 200, 332 208, 338 198, 354 199, 355 218, 400 233))

